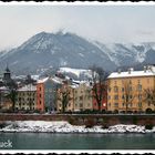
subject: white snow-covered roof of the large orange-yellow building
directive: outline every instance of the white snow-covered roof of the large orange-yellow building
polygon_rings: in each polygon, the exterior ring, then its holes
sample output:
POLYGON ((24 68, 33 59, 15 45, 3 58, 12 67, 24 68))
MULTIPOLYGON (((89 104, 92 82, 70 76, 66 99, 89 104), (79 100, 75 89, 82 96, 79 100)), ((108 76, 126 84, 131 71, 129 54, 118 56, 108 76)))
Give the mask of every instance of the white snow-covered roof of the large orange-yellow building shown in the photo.
POLYGON ((155 73, 151 70, 146 71, 127 71, 127 72, 113 72, 108 75, 107 79, 115 79, 115 78, 132 78, 132 76, 154 76, 155 73))

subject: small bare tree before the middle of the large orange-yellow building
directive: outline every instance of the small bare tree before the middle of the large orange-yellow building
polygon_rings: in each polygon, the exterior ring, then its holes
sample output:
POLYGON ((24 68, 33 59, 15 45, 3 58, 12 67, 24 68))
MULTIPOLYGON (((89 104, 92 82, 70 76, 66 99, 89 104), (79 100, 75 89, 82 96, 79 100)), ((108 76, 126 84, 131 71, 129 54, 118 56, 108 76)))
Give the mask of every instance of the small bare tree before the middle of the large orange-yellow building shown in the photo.
POLYGON ((133 104, 133 100, 135 99, 135 93, 134 93, 134 87, 132 87, 132 84, 130 81, 124 81, 123 82, 123 103, 125 104, 125 113, 130 110, 130 105, 133 104))

